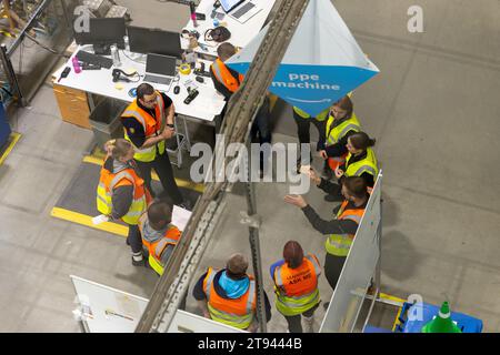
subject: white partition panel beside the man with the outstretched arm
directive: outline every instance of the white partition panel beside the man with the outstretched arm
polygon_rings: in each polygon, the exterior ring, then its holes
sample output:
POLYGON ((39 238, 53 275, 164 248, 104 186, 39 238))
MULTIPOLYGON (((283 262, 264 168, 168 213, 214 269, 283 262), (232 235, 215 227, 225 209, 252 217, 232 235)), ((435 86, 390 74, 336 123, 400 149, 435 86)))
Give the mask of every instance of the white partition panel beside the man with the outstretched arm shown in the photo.
POLYGON ((320 333, 350 333, 356 325, 363 296, 380 257, 378 229, 381 223, 381 187, 382 174, 380 173, 331 297, 320 333))

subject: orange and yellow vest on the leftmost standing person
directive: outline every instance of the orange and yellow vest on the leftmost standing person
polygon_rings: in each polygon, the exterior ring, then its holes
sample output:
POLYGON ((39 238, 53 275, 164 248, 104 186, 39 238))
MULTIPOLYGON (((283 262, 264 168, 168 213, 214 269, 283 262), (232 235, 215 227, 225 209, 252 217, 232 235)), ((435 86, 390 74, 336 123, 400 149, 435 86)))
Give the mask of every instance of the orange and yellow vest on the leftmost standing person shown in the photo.
POLYGON ((124 169, 116 174, 108 169, 101 169, 97 190, 97 207, 99 212, 109 215, 112 211, 113 190, 123 185, 133 186, 133 200, 129 211, 121 220, 128 224, 136 225, 141 214, 146 211, 148 195, 144 190, 144 181, 139 178, 132 168, 124 169))

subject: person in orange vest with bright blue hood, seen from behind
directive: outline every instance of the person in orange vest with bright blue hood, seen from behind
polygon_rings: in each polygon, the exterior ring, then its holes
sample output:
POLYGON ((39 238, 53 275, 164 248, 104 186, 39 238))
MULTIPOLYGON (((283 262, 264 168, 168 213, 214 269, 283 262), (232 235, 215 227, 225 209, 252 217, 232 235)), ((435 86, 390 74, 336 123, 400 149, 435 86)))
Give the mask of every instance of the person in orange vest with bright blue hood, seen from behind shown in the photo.
MULTIPOLYGON (((226 325, 256 332, 257 288, 253 276, 247 274, 248 261, 242 254, 233 254, 223 270, 208 271, 198 280, 192 295, 203 316, 226 325)), ((271 318, 271 305, 264 293, 266 318, 271 318)))

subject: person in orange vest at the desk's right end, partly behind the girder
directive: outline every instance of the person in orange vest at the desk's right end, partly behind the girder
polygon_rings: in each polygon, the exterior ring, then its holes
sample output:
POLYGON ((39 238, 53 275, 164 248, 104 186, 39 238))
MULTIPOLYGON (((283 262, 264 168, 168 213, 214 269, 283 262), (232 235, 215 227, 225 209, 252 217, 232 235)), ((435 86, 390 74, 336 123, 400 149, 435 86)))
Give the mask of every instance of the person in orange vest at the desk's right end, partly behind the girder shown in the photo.
MULTIPOLYGON (((231 95, 240 88, 240 84, 243 82, 244 77, 238 73, 236 70, 228 68, 226 65, 226 61, 236 54, 236 48, 231 43, 223 42, 217 48, 218 58, 210 67, 210 74, 213 80, 213 85, 217 91, 219 91, 222 95, 224 95, 226 100, 229 101, 231 95)), ((223 115, 222 112, 221 115, 223 115)), ((216 131, 219 131, 219 128, 216 128, 216 131)), ((250 138, 253 143, 271 143, 272 134, 271 134, 271 125, 270 125, 270 111, 269 111, 269 98, 262 102, 262 105, 259 109, 259 112, 256 115, 253 121, 250 138)), ((264 160, 269 158, 269 152, 260 152, 260 171, 263 173, 264 169, 264 160)))

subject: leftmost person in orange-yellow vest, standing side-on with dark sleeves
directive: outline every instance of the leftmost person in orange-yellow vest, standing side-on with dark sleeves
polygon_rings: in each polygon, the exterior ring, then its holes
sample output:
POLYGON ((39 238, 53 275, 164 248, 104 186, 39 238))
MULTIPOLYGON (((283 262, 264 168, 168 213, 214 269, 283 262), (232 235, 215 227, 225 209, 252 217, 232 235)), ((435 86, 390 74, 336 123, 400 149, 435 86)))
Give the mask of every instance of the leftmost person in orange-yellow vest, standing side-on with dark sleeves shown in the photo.
POLYGON ((108 156, 101 169, 97 189, 97 209, 110 220, 121 220, 129 225, 127 244, 132 250, 132 265, 144 265, 139 217, 151 200, 139 176, 130 142, 118 139, 106 144, 108 156))

